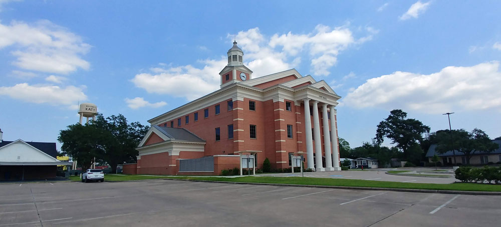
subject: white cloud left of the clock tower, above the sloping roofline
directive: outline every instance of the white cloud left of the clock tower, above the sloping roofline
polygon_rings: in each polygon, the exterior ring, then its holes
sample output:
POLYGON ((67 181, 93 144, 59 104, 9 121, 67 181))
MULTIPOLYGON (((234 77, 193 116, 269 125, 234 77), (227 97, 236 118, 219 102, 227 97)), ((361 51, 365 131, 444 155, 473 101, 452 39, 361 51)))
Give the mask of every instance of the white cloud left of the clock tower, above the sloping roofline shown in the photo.
POLYGON ((203 68, 184 65, 170 68, 152 68, 152 73, 136 74, 131 80, 134 85, 149 93, 170 94, 196 99, 219 88, 219 71, 227 59, 203 60, 203 68))

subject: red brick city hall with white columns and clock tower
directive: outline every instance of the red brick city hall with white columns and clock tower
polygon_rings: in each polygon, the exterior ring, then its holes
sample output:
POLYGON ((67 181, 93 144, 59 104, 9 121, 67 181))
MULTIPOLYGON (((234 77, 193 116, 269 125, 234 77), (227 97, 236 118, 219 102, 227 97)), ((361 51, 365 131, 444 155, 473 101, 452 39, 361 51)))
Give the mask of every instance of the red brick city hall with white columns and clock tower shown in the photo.
POLYGON ((305 167, 340 170, 340 96, 327 82, 296 69, 253 78, 236 41, 227 55, 220 89, 148 120, 137 165, 124 172, 217 175, 237 167, 241 151, 257 153, 258 168, 266 157, 272 168, 288 168, 291 153, 306 152, 305 167), (186 159, 200 168, 183 171, 186 159))

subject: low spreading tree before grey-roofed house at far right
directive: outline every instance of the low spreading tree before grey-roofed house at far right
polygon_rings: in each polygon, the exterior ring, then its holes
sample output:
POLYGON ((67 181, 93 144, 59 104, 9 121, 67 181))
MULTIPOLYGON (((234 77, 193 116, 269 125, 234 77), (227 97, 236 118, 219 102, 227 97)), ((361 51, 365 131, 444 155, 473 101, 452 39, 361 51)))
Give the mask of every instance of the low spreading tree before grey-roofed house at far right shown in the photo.
POLYGON ((499 147, 497 143, 492 142, 488 135, 475 128, 471 132, 464 129, 437 131, 438 139, 436 152, 445 153, 449 150, 457 150, 464 153, 466 163, 469 164, 471 156, 475 151, 491 152, 499 147))

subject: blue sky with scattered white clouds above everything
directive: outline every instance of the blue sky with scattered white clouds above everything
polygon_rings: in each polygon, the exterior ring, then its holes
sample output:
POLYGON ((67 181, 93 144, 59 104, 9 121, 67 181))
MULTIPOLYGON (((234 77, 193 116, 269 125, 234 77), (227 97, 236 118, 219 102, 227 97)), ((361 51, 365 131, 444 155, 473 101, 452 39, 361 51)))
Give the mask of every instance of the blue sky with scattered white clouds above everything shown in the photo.
POLYGON ((499 11, 498 0, 0 0, 0 128, 56 142, 82 102, 149 124, 218 89, 236 38, 253 78, 296 68, 328 82, 352 147, 392 109, 432 131, 454 112, 453 129, 494 138, 499 11))

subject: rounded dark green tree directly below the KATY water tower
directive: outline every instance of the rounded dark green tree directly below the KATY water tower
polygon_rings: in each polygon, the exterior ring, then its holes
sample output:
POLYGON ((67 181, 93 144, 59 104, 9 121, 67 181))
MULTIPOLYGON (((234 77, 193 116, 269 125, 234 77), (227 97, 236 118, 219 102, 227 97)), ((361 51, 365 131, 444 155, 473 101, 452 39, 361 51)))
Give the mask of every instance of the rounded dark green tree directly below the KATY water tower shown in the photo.
POLYGON ((82 169, 88 169, 94 163, 94 157, 103 149, 101 145, 101 131, 89 124, 68 125, 61 130, 58 141, 62 143, 62 154, 69 155, 76 160, 82 169))

